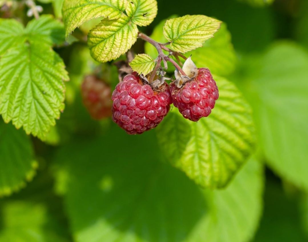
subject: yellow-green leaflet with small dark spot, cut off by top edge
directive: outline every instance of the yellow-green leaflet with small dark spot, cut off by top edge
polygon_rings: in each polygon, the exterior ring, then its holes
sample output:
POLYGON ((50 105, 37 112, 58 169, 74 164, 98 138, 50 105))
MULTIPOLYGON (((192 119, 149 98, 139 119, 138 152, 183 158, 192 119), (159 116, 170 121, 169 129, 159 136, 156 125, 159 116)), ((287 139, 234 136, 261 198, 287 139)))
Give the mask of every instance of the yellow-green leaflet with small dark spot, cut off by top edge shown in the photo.
POLYGON ((156 0, 131 0, 125 9, 132 22, 139 26, 147 26, 153 22, 157 14, 156 0))

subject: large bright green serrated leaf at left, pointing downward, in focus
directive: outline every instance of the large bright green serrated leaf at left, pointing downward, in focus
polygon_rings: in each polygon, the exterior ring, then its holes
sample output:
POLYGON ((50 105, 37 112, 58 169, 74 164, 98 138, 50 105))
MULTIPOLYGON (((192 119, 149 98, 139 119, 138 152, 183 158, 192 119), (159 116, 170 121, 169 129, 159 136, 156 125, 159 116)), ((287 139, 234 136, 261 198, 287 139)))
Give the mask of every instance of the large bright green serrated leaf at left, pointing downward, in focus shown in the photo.
POLYGON ((68 80, 64 63, 51 47, 24 43, 10 48, 0 59, 4 121, 12 120, 17 128, 44 140, 64 109, 64 80, 68 80))

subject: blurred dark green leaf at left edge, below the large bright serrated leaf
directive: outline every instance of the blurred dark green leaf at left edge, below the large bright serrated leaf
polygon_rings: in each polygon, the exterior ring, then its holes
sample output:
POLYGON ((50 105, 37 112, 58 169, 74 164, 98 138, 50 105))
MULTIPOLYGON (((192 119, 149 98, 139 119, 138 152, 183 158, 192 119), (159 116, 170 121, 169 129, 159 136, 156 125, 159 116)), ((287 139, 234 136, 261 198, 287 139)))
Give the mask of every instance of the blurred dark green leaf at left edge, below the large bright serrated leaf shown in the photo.
POLYGON ((29 137, 0 120, 0 197, 10 195, 32 180, 38 163, 29 137))

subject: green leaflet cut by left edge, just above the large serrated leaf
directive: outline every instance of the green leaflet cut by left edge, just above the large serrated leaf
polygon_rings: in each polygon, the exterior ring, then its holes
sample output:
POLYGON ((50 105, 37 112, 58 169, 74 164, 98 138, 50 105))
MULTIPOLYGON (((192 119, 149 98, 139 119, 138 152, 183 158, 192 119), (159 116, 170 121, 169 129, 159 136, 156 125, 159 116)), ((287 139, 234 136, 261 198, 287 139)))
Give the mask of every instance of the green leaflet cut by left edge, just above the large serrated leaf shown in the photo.
POLYGON ((15 19, 0 19, 0 57, 10 47, 16 46, 26 39, 23 35, 24 32, 22 24, 15 19), (10 27, 8 28, 8 26, 10 27))

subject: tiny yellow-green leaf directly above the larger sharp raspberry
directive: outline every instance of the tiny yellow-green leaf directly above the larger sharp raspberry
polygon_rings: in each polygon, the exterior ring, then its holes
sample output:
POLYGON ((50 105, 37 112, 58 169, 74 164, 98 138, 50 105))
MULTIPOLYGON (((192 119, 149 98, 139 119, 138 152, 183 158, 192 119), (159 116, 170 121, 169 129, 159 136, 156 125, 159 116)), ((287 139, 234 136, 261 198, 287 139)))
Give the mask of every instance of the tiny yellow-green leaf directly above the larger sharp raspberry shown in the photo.
POLYGON ((154 69, 155 61, 147 54, 139 54, 135 56, 129 65, 132 67, 133 71, 138 72, 138 74, 147 75, 154 69))

